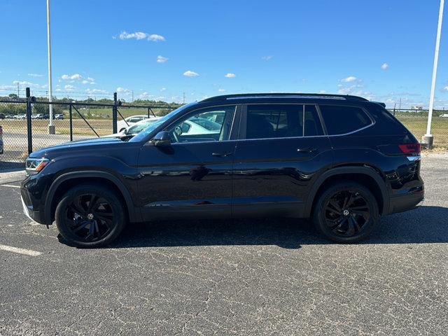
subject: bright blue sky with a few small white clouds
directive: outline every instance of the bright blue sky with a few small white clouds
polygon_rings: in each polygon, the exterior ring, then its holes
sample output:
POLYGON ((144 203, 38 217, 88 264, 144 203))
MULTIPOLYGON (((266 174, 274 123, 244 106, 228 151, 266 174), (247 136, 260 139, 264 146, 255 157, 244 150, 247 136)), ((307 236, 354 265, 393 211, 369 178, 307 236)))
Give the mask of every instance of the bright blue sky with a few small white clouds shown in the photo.
MULTIPOLYGON (((48 83, 45 0, 2 0, 0 93, 48 83)), ((439 0, 52 0, 58 97, 186 102, 240 92, 428 105, 439 0), (189 75, 189 76, 186 76, 189 75)), ((445 6, 447 7, 447 6, 445 6)), ((445 8, 445 16, 448 14, 445 8)), ((436 107, 448 107, 448 18, 436 107)))

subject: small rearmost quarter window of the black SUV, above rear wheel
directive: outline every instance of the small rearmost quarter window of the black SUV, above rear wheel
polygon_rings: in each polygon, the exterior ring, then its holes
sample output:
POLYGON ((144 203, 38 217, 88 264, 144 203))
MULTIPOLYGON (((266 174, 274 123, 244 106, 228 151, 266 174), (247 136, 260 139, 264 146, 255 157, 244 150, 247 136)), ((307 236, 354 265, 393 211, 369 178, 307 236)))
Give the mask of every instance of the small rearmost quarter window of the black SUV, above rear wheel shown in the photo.
POLYGON ((372 120, 358 107, 319 105, 329 135, 346 134, 372 124, 372 120))

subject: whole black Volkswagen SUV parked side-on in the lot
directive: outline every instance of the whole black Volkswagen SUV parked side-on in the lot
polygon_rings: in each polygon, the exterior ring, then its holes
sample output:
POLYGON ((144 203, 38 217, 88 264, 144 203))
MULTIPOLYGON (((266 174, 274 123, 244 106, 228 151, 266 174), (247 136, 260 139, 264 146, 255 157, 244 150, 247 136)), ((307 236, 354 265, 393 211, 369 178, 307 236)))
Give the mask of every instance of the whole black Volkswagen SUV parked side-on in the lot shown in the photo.
POLYGON ((27 159, 25 214, 76 246, 127 222, 313 218, 337 242, 423 200, 420 144, 384 104, 337 94, 232 94, 172 111, 129 141, 77 141, 27 159))

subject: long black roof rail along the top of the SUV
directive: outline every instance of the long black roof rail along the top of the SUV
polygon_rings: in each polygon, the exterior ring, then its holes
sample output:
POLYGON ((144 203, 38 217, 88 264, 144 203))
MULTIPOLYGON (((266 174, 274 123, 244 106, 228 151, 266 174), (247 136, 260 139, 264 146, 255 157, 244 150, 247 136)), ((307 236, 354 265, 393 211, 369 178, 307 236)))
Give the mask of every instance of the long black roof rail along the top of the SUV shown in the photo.
POLYGON ((202 100, 202 102, 212 102, 214 100, 223 99, 251 99, 251 98, 328 98, 328 99, 346 99, 368 102, 367 99, 350 94, 323 94, 323 93, 240 93, 240 94, 224 94, 222 96, 210 97, 202 100))

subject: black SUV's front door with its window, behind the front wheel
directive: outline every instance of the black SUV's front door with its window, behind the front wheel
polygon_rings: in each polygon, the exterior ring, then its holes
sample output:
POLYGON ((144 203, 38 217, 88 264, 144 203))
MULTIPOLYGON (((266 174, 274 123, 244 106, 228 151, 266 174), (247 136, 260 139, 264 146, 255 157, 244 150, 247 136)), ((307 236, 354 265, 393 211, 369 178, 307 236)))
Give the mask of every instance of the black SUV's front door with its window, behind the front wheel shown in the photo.
POLYGON ((167 127, 171 146, 141 148, 139 199, 146 221, 168 214, 231 216, 236 109, 217 106, 188 113, 167 127))

